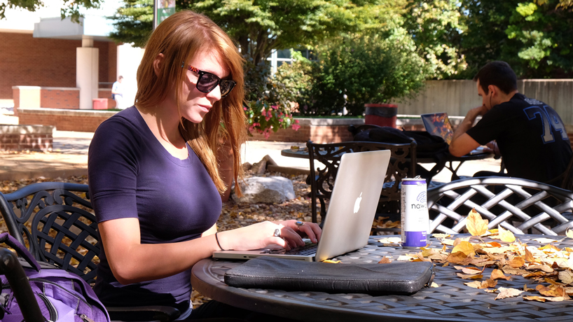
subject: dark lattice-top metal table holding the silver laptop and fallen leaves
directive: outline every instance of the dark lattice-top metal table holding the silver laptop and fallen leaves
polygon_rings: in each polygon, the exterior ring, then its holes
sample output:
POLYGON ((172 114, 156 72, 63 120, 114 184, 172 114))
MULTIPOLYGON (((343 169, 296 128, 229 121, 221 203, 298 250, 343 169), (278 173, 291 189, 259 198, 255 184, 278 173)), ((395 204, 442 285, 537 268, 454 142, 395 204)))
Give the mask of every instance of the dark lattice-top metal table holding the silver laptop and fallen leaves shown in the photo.
MULTIPOLYGON (((460 235, 460 237, 467 235, 460 235)), ((415 249, 399 245, 381 246, 371 237, 368 245, 352 253, 338 256, 343 263, 373 263, 382 256, 415 253, 415 249)), ((540 235, 516 235, 528 246, 542 246, 532 239, 540 235)), ((453 237, 455 238, 455 236, 453 237)), ((441 248, 440 241, 430 238, 432 247, 441 248)), ((487 238, 484 241, 488 241, 487 238)), ((499 241, 499 240, 498 240, 499 241)), ((573 247, 573 239, 556 244, 560 248, 573 247)), ((449 247, 449 246, 448 246, 449 247)), ((496 293, 465 286, 472 281, 456 275, 454 265, 434 266, 437 288, 423 288, 414 295, 371 296, 366 294, 329 294, 305 291, 234 288, 223 283, 228 269, 241 265, 240 261, 201 260, 193 267, 193 288, 214 300, 275 316, 301 321, 573 321, 573 301, 536 302, 523 300, 523 295, 539 295, 527 291, 518 297, 494 300, 496 293)), ((344 264, 333 264, 344 265, 344 264)), ((382 265, 382 264, 380 264, 382 265)), ((489 276, 486 268, 483 276, 489 276)), ((534 288, 534 281, 522 276, 511 276, 510 281, 498 280, 496 288, 534 288)))

